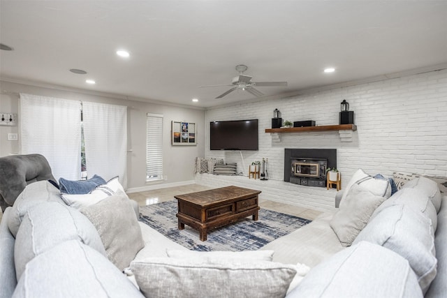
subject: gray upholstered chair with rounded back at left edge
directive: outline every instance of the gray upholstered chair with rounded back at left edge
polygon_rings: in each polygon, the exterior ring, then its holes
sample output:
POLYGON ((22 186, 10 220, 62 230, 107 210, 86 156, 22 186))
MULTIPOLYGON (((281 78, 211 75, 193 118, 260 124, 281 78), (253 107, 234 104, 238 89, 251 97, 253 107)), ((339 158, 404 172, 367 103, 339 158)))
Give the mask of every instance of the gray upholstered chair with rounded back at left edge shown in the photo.
POLYGON ((56 181, 50 164, 41 154, 13 155, 0 158, 0 206, 13 206, 15 199, 30 183, 56 181))

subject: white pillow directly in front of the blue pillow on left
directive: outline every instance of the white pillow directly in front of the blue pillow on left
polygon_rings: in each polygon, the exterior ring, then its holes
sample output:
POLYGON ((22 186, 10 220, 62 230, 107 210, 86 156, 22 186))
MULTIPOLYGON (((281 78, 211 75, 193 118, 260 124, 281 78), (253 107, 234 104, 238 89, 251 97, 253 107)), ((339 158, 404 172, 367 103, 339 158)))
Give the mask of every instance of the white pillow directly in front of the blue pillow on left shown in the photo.
POLYGON ((71 195, 63 193, 61 195, 62 200, 68 206, 76 209, 81 209, 82 207, 87 207, 92 204, 96 204, 110 195, 115 194, 117 191, 122 191, 124 193, 123 186, 119 183, 118 177, 110 179, 106 184, 101 184, 97 186, 93 191, 83 195, 71 195))

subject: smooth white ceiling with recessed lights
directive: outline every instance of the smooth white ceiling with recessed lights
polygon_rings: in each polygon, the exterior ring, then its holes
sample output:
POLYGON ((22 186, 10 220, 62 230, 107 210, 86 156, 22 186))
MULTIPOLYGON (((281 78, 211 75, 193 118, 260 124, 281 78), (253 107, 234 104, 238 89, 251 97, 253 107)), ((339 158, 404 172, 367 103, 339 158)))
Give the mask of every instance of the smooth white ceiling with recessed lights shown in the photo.
POLYGON ((0 51, 3 80, 198 107, 254 98, 198 88, 230 84, 237 64, 254 81, 288 81, 257 87, 284 96, 447 63, 447 1, 1 0, 0 17, 0 43, 14 48, 0 51))

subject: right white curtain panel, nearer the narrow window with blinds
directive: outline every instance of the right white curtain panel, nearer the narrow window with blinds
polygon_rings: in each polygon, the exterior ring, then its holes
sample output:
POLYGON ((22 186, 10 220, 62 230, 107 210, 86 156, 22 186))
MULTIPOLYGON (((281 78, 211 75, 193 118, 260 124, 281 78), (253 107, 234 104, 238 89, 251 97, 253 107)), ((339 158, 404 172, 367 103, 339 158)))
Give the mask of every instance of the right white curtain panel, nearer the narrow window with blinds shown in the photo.
POLYGON ((126 189, 127 107, 83 102, 82 115, 88 177, 119 176, 126 189))

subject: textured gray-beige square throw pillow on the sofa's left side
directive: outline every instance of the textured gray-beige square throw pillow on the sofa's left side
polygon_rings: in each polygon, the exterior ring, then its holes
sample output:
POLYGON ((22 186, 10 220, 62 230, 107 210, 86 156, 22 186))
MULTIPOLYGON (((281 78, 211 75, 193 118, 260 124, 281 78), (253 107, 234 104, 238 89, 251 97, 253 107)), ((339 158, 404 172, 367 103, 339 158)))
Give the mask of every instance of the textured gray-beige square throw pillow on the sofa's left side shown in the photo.
POLYGON ((126 193, 117 191, 106 200, 80 211, 98 230, 109 260, 120 270, 129 267, 145 243, 126 193))

